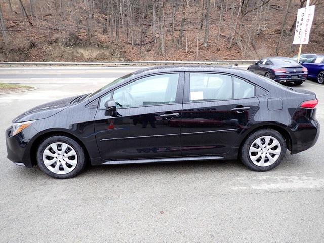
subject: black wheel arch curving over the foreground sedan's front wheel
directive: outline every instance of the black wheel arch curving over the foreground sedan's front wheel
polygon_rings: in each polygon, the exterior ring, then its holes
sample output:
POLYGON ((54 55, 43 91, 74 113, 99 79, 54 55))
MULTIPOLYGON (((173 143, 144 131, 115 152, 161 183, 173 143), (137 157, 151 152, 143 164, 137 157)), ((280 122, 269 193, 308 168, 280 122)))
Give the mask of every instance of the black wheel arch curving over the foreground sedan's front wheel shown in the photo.
POLYGON ((89 152, 88 152, 85 144, 77 136, 75 136, 69 132, 66 132, 66 131, 52 131, 51 130, 51 131, 46 131, 46 132, 42 133, 37 138, 35 138, 35 140, 32 142, 32 145, 30 147, 30 159, 31 159, 31 163, 33 166, 37 164, 36 157, 37 157, 37 148, 38 148, 39 144, 41 144, 41 142, 43 140, 45 140, 46 138, 49 138, 52 136, 65 136, 65 137, 75 140, 84 149, 87 163, 90 163, 89 152))

